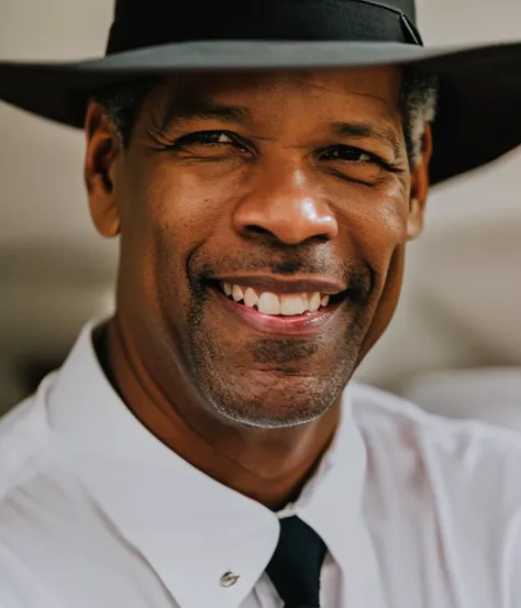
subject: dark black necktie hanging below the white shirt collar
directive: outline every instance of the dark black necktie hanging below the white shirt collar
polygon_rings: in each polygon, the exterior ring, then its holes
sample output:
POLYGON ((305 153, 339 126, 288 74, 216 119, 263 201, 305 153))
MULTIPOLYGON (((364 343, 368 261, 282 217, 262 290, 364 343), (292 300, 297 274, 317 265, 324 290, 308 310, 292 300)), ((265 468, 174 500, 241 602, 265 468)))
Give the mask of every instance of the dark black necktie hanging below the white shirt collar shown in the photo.
POLYGON ((296 516, 280 520, 280 538, 266 573, 285 608, 320 608, 325 544, 296 516))

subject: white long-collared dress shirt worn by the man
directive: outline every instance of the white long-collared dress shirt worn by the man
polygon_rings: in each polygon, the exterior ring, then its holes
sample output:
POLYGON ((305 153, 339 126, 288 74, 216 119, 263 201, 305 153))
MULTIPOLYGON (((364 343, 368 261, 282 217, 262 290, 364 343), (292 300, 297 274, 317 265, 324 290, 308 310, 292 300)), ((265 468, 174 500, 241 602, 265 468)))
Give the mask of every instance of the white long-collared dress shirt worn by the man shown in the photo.
POLYGON ((521 438, 350 383, 335 439, 274 513, 129 411, 95 322, 0 422, 0 608, 280 608, 279 518, 329 548, 324 608, 521 608, 521 438))

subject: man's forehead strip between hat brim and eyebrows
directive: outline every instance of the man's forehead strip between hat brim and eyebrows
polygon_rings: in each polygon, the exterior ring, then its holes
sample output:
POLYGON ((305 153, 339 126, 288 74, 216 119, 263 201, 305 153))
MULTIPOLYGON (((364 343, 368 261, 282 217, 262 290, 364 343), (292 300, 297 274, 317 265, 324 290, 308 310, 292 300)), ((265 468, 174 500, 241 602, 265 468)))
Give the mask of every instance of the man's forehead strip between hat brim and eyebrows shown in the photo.
POLYGON ((207 73, 165 79, 156 99, 166 110, 171 104, 182 107, 201 99, 245 107, 253 115, 299 111, 325 115, 352 108, 396 118, 400 85, 397 67, 207 73))

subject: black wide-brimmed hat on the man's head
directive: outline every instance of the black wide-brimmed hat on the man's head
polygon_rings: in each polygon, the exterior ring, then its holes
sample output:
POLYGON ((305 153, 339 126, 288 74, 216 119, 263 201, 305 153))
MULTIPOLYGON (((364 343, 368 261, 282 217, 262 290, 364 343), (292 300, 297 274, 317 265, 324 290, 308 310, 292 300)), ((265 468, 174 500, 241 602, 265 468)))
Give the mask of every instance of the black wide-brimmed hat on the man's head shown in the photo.
POLYGON ((439 77, 432 184, 521 144, 521 42, 425 47, 413 0, 117 0, 104 57, 0 63, 0 98, 79 128, 93 91, 141 77, 374 65, 439 77))

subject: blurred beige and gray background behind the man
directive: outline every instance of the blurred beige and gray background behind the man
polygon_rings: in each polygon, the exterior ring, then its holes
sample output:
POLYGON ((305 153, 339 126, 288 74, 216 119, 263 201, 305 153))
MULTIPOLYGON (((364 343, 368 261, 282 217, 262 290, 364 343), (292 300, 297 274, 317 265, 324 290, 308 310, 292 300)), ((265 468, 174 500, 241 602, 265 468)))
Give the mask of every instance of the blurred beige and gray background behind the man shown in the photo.
MULTIPOLYGON (((520 0, 418 2, 425 44, 521 38, 520 0)), ((0 59, 101 55, 112 7, 0 0, 0 59)), ((0 103, 0 413, 112 310, 118 243, 91 225, 82 154, 81 133, 0 103)), ((521 431, 520 175, 518 151, 432 192, 398 313, 358 379, 521 431)))

